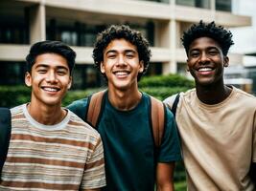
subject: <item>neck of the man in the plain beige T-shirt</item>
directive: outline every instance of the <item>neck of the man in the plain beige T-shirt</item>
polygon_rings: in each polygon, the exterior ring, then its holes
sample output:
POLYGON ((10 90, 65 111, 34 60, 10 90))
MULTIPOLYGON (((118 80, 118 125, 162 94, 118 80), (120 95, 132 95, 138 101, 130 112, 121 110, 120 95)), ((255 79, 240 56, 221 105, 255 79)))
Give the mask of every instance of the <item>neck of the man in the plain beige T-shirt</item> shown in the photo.
POLYGON ((213 84, 201 86, 196 84, 198 99, 206 104, 221 103, 227 96, 230 95, 232 89, 223 84, 213 84))

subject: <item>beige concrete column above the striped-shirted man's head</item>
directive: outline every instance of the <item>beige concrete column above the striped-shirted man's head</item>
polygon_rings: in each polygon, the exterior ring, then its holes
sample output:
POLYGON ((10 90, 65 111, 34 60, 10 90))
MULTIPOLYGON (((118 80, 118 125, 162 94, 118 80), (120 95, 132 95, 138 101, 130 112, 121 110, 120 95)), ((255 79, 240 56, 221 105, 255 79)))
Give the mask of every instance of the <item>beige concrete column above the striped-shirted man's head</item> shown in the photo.
POLYGON ((41 3, 30 8, 30 43, 46 39, 45 6, 41 3))

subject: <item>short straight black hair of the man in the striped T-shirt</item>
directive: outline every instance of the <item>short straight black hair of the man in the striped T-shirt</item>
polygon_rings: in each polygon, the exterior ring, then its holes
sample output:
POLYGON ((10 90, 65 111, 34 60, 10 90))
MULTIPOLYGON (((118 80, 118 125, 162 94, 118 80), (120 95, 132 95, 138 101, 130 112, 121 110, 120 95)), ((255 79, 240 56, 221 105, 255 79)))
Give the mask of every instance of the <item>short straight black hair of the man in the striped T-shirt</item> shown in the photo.
POLYGON ((26 57, 27 72, 31 73, 36 57, 43 53, 57 53, 63 56, 67 60, 70 74, 72 74, 77 54, 63 42, 52 40, 36 42, 31 47, 30 53, 26 57))

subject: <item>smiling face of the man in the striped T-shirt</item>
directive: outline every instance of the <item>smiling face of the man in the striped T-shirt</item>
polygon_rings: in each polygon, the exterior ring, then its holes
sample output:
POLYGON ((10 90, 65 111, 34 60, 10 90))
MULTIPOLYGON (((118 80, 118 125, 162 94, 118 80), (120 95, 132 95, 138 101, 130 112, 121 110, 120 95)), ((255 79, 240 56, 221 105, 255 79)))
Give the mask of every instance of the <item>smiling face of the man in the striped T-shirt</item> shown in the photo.
POLYGON ((37 55, 31 74, 25 75, 26 85, 32 87, 31 102, 36 105, 60 107, 71 81, 67 60, 57 53, 37 55))

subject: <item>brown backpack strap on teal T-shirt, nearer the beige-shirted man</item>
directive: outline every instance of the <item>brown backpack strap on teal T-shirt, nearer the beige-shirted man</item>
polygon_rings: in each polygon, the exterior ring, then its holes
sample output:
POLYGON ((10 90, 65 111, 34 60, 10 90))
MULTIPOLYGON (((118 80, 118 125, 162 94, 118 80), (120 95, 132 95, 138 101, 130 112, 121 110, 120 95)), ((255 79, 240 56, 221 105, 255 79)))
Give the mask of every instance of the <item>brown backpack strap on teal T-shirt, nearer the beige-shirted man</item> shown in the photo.
POLYGON ((160 147, 165 130, 165 105, 151 96, 151 126, 154 145, 160 147))

